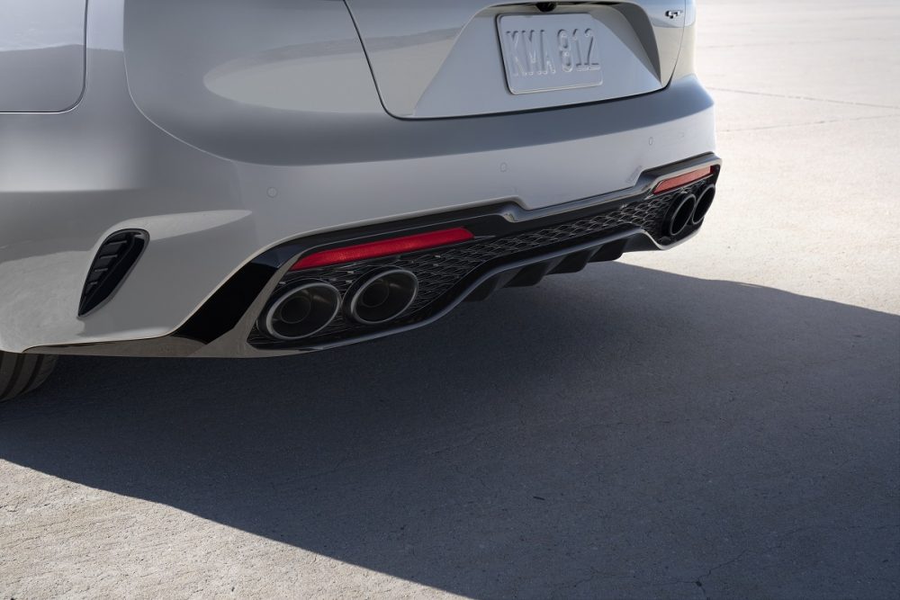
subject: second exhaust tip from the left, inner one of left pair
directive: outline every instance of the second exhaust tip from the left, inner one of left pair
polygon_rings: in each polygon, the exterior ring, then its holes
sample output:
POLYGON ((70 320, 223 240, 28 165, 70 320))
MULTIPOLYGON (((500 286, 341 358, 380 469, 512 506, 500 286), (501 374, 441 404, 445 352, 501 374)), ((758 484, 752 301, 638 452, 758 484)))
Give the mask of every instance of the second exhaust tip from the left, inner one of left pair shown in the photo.
POLYGON ((419 278, 405 269, 374 273, 349 294, 347 314, 363 325, 381 325, 406 312, 418 293, 419 278))

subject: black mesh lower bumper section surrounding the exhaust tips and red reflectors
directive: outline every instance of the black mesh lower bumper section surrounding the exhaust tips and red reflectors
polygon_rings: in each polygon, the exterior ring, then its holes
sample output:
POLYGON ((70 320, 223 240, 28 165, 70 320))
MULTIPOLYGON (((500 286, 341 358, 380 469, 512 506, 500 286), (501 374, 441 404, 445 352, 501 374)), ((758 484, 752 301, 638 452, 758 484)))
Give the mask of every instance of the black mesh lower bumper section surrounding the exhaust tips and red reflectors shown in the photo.
MULTIPOLYGON (((671 235, 666 220, 681 198, 715 185, 721 161, 706 155, 644 173, 626 192, 610 193, 549 210, 522 210, 513 203, 434 217, 304 237, 258 255, 220 287, 170 336, 123 343, 32 348, 41 354, 251 357, 297 354, 356 344, 423 327, 464 300, 483 300, 502 287, 534 285, 545 275, 575 273, 587 264, 616 260, 626 252, 663 250, 687 241, 700 224, 671 235), (662 179, 711 166, 704 179, 653 194, 662 179), (352 264, 304 270, 290 267, 304 255, 429 230, 464 227, 476 237, 463 244, 352 264), (303 283, 334 286, 347 304, 348 291, 372 273, 403 269, 419 278, 417 300, 401 318, 370 326, 338 313, 315 336, 282 341, 267 336, 260 316, 273 301, 303 283)), ((702 223, 701 223, 702 224, 702 223)), ((346 307, 345 307, 346 308, 346 307)))

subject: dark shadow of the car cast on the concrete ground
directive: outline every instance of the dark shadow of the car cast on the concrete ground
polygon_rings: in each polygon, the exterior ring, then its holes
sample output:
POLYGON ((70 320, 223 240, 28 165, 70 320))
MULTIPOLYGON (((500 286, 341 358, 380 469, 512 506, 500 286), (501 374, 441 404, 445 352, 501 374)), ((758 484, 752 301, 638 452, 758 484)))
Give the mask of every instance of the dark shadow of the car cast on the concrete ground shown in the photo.
POLYGON ((0 459, 465 596, 895 596, 898 340, 604 264, 324 354, 67 357, 0 459))

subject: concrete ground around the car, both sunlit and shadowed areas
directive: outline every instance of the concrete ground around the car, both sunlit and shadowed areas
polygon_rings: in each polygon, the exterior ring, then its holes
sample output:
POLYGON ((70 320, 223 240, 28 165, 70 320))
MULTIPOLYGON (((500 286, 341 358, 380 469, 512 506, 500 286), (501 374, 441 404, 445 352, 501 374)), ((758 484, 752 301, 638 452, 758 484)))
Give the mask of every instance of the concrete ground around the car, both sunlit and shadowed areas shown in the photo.
POLYGON ((0 410, 0 597, 900 595, 900 4, 706 0, 671 253, 0 410))

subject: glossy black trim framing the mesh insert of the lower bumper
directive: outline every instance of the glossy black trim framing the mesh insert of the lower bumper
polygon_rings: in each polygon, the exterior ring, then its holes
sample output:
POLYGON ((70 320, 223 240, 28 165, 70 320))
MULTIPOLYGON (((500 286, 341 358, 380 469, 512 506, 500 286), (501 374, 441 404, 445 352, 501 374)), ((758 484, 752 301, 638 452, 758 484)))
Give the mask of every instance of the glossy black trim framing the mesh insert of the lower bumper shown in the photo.
MULTIPOLYGON (((178 331, 170 336, 128 342, 109 342, 84 345, 54 345, 31 348, 27 352, 35 354, 95 354, 95 355, 137 355, 137 356, 196 356, 196 357, 260 357, 284 354, 300 354, 329 349, 341 345, 356 344, 396 333, 424 327, 438 318, 444 317, 450 310, 464 301, 476 289, 491 278, 503 273, 522 269, 530 264, 553 261, 565 255, 582 252, 590 248, 599 248, 614 242, 624 242, 624 251, 662 250, 680 245, 696 234, 696 231, 661 244, 642 228, 618 230, 608 236, 594 237, 587 241, 575 240, 571 245, 546 253, 535 253, 527 258, 513 257, 509 262, 479 273, 473 282, 467 282, 464 291, 455 292, 455 297, 442 306, 437 312, 411 325, 391 327, 372 333, 352 336, 334 342, 312 342, 309 345, 297 345, 284 348, 261 348, 249 342, 258 316, 266 309, 269 298, 275 292, 279 282, 289 273, 291 266, 302 257, 313 251, 320 251, 338 245, 347 245, 356 240, 368 240, 373 237, 416 232, 428 228, 446 228, 464 224, 470 227, 473 219, 491 219, 491 228, 498 228, 495 235, 502 237, 507 232, 523 231, 536 227, 544 222, 566 222, 591 211, 603 212, 613 210, 619 204, 635 202, 652 195, 655 185, 663 179, 689 173, 698 166, 714 166, 714 177, 717 176, 721 160, 713 154, 695 157, 676 165, 663 166, 647 171, 639 178, 638 184, 630 189, 603 194, 582 201, 568 202, 554 207, 539 210, 525 210, 517 204, 504 203, 492 207, 465 210, 462 213, 437 215, 402 223, 384 224, 375 228, 360 231, 347 231, 328 234, 320 237, 303 238, 277 246, 257 259, 251 261, 234 277, 226 282, 211 299, 202 306, 194 316, 178 331), (255 292, 255 293, 254 293, 255 292), (234 300, 234 296, 247 300, 234 300), (222 309, 230 310, 225 314, 222 309)), ((474 230, 477 233, 478 227, 474 230)), ((501 286, 502 287, 502 286, 501 286)))

